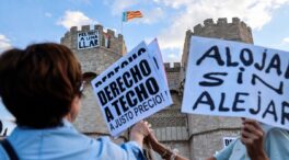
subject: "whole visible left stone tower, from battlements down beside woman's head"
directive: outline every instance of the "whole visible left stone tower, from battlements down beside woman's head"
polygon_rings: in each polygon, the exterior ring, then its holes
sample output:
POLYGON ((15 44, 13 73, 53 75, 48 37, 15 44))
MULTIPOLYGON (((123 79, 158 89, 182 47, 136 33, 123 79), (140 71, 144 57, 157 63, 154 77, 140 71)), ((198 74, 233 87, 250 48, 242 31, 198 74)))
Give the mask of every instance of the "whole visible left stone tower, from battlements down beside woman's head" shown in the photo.
MULTIPOLYGON (((73 26, 61 38, 61 44, 68 46, 77 54, 85 81, 82 108, 76 121, 76 127, 89 136, 108 136, 109 132, 103 119, 100 106, 95 101, 90 82, 126 54, 123 35, 115 35, 115 32, 112 30, 104 31, 102 25, 94 25, 93 27, 84 25, 80 30, 73 26), (80 49, 80 44, 78 44, 80 43, 78 41, 79 36, 83 35, 83 33, 90 34, 93 31, 97 31, 97 34, 95 34, 97 37, 94 38, 97 41, 97 45, 95 47, 80 49)), ((120 141, 124 140, 126 140, 126 136, 120 136, 120 141)))

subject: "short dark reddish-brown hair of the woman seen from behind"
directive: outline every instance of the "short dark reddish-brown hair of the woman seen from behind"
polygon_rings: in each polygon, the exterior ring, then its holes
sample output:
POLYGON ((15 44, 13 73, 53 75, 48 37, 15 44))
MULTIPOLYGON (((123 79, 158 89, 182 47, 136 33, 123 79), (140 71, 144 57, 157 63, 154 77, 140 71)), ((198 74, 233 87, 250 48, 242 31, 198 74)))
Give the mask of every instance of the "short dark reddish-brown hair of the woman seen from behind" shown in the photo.
POLYGON ((61 125, 80 85, 80 64, 63 45, 33 44, 0 55, 0 96, 19 126, 61 125))

